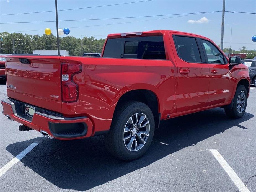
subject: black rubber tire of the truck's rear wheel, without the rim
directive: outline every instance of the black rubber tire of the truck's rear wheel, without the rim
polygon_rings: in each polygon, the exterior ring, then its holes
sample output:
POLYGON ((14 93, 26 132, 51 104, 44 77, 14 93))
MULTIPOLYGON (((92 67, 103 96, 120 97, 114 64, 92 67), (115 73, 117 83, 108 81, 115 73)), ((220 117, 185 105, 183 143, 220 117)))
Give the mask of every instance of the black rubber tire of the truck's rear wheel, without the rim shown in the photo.
POLYGON ((110 131, 104 135, 105 145, 108 151, 119 159, 126 161, 137 159, 138 157, 141 157, 149 148, 154 136, 154 127, 153 113, 146 104, 138 101, 123 102, 117 106, 110 131), (130 117, 136 113, 143 113, 148 118, 149 134, 143 147, 141 147, 138 151, 130 151, 124 143, 124 128, 130 117))

